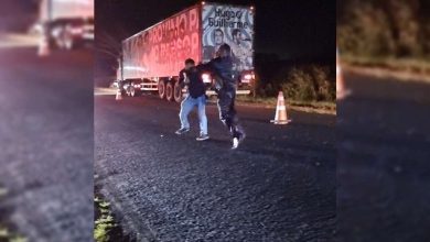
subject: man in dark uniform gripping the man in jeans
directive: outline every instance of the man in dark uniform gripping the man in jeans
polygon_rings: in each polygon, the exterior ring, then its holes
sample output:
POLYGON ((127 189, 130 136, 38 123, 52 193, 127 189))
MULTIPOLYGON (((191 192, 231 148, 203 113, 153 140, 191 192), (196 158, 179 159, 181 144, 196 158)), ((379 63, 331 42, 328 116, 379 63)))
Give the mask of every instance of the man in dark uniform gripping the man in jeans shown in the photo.
POLYGON ((214 88, 218 96, 219 119, 233 136, 232 148, 237 148, 245 139, 245 131, 239 124, 235 109, 237 74, 233 72, 232 48, 228 44, 219 46, 217 57, 204 65, 212 73, 214 88))

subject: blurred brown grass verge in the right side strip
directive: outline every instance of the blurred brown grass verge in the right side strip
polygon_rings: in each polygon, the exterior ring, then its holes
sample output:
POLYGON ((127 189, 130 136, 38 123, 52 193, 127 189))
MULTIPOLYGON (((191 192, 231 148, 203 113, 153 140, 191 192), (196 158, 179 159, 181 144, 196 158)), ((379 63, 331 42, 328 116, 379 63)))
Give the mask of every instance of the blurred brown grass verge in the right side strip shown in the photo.
POLYGON ((423 58, 394 58, 394 57, 363 57, 343 54, 342 62, 358 67, 378 67, 388 70, 406 72, 419 75, 430 75, 430 59, 423 58))

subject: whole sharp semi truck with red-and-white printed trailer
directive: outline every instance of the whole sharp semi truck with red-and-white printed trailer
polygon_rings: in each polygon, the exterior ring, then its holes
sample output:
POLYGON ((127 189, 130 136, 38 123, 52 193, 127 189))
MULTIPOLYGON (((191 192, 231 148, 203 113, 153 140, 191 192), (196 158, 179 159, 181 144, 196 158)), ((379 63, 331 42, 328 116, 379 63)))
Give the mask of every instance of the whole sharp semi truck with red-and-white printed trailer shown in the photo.
MULTIPOLYGON (((254 85, 254 8, 198 3, 122 41, 117 79, 129 96, 158 92, 161 99, 180 102, 183 89, 179 73, 186 58, 209 62, 218 47, 232 47, 238 95, 254 85)), ((203 74, 211 86, 212 77, 203 74)), ((209 88, 207 95, 214 95, 209 88)))

